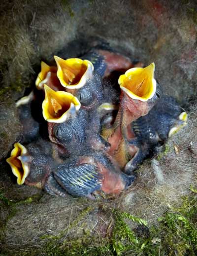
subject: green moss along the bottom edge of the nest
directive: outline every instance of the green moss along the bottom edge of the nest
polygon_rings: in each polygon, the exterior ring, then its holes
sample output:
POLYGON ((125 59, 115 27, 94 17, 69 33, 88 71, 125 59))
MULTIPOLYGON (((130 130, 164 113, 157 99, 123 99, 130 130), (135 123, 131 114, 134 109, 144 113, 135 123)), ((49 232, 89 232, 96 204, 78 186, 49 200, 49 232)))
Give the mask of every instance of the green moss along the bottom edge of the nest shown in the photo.
MULTIPOLYGON (((35 198, 34 198, 35 199, 35 198)), ((17 204, 35 202, 33 198, 25 201, 11 202, 0 195, 1 203, 12 208, 8 218, 16 211, 17 204)), ((37 200, 37 198, 36 198, 37 200)), ((93 208, 81 210, 77 219, 69 224, 74 229, 81 219, 93 208)), ((100 209, 108 212, 105 205, 100 209)), ((42 248, 27 249, 23 252, 12 252, 17 256, 195 256, 197 255, 197 189, 191 187, 191 193, 182 198, 180 206, 171 207, 158 218, 154 225, 145 220, 134 217, 119 209, 110 210, 111 221, 107 226, 105 236, 83 230, 83 236, 66 239, 67 229, 57 236, 42 236, 46 240, 42 248), (131 228, 131 222, 135 227, 131 228)), ((6 223, 5 223, 6 224, 6 223)), ((2 227, 1 227, 2 232, 2 227)), ((2 255, 9 255, 10 251, 3 251, 2 255)))

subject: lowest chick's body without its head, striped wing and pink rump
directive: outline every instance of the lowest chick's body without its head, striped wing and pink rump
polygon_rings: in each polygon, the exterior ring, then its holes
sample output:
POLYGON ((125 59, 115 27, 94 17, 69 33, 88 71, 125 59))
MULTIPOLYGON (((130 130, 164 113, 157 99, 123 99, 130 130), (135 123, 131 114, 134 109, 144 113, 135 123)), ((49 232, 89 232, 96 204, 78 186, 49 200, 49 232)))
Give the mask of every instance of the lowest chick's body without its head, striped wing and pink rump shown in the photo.
POLYGON ((117 164, 100 151, 89 151, 67 159, 55 169, 45 184, 45 190, 56 196, 87 196, 102 191, 118 195, 134 181, 134 176, 122 173, 117 164), (58 187, 61 189, 58 189, 58 187))

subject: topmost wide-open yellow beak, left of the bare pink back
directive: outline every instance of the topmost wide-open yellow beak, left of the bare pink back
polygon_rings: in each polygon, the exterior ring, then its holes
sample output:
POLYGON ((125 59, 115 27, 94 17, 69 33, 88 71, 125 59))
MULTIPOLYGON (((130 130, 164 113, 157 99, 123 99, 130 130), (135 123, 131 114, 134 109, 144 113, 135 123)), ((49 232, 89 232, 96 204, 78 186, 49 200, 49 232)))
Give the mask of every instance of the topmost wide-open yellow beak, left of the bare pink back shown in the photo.
POLYGON ((88 60, 71 58, 63 60, 58 56, 54 56, 58 66, 57 76, 62 86, 67 89, 79 89, 93 75, 94 66, 88 60))

